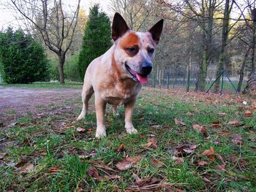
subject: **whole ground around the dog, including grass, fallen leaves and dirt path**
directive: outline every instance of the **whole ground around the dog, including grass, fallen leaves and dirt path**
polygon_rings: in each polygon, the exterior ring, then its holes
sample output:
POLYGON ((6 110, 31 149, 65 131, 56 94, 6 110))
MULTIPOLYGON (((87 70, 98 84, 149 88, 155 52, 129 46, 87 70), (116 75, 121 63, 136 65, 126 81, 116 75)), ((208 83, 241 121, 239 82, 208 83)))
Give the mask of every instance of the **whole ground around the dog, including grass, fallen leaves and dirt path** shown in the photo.
POLYGON ((143 88, 127 135, 108 107, 94 139, 82 85, 0 85, 1 191, 254 191, 256 101, 143 88))

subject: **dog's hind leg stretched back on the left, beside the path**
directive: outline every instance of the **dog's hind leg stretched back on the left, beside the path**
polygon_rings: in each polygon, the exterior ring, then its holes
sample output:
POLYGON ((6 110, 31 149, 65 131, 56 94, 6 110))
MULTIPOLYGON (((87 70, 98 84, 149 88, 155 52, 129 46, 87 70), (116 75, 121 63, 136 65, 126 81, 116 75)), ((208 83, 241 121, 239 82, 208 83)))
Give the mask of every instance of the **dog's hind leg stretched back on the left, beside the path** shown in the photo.
POLYGON ((77 120, 83 119, 87 112, 89 107, 89 100, 91 99, 92 94, 94 93, 94 89, 91 85, 84 84, 83 85, 83 91, 82 91, 82 101, 83 101, 83 109, 80 115, 78 116, 77 120))

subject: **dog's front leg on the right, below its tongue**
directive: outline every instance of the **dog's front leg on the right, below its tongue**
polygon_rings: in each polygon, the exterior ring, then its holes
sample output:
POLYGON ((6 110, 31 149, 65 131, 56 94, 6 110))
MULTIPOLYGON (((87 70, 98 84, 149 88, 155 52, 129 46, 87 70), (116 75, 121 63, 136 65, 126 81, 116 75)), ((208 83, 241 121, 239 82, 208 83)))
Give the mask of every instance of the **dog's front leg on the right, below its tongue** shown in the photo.
POLYGON ((124 104, 125 110, 125 128, 127 129, 127 134, 137 134, 138 131, 132 125, 132 114, 135 107, 136 99, 129 101, 124 104))

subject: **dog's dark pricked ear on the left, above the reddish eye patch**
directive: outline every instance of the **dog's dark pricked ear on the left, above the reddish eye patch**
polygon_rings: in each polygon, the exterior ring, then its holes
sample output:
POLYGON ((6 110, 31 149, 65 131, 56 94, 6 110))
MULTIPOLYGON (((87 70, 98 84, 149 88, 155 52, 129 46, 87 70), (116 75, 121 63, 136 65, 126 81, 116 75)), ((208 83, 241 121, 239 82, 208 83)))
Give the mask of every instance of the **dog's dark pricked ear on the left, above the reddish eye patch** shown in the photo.
POLYGON ((116 12, 113 18, 112 24, 112 39, 116 41, 118 37, 121 37, 129 30, 127 23, 125 22, 124 18, 116 12))

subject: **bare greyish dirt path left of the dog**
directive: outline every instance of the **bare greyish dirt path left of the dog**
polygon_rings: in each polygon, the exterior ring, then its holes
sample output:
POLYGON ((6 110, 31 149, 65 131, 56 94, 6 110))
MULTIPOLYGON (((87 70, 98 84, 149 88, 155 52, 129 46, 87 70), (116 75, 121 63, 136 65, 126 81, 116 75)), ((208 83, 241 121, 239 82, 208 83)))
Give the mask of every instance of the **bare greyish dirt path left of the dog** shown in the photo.
MULTIPOLYGON (((78 89, 6 88, 0 86, 0 127, 28 112, 38 112, 38 107, 61 103, 80 97, 78 89)), ((67 107, 69 109, 70 107, 67 107)), ((66 109, 66 110, 67 110, 66 109)))

